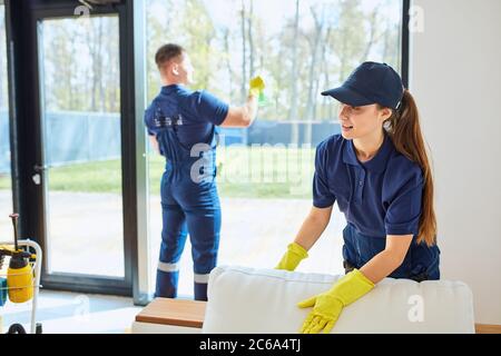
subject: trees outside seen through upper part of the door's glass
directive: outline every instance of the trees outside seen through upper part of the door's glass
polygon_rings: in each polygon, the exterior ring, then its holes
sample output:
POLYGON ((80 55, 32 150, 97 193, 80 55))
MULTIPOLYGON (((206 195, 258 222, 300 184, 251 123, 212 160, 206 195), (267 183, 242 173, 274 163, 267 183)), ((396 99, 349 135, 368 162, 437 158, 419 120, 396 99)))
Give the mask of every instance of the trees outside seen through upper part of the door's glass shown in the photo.
POLYGON ((47 111, 120 112, 118 17, 42 22, 47 111))

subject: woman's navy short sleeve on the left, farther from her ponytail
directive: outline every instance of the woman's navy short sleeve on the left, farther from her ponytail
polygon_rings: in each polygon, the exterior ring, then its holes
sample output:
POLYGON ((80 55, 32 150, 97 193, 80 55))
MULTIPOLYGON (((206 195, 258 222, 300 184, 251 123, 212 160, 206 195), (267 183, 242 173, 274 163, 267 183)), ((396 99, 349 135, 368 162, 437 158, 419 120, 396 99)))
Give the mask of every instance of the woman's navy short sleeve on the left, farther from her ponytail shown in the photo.
POLYGON ((322 142, 315 152, 315 175, 313 176, 313 206, 316 208, 328 208, 336 201, 335 196, 328 188, 326 176, 326 145, 322 142))

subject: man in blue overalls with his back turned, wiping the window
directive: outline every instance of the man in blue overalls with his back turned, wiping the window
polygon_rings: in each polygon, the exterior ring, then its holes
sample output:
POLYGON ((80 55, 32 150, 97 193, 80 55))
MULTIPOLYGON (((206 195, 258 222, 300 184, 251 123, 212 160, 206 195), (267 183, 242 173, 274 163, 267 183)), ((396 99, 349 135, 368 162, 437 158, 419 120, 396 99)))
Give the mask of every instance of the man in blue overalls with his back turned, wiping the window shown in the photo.
POLYGON ((264 83, 253 80, 246 103, 230 107, 207 91, 186 88, 193 82, 194 69, 183 47, 165 44, 155 60, 163 88, 146 110, 145 122, 151 144, 166 158, 155 296, 177 297, 179 259, 189 234, 195 299, 207 300, 207 281, 216 266, 220 231, 215 127, 249 127, 264 83))

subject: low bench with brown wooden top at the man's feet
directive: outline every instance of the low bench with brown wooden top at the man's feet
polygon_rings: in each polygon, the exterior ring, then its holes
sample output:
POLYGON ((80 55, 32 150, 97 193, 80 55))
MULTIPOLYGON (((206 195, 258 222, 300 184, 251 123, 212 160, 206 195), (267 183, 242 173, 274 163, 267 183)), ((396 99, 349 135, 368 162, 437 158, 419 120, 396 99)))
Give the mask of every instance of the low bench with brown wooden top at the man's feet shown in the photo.
POLYGON ((134 334, 202 333, 206 301, 157 298, 132 324, 134 334))

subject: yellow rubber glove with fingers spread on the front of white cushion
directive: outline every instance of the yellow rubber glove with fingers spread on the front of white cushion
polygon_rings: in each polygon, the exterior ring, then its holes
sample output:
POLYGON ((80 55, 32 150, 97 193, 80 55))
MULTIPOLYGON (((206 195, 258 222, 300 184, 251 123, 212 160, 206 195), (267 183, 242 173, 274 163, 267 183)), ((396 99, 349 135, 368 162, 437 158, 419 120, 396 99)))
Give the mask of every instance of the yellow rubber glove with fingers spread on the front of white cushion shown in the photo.
POLYGON ((301 328, 301 334, 331 333, 341 312, 374 288, 374 284, 358 269, 354 269, 337 280, 325 293, 297 304, 299 308, 313 307, 301 328))

